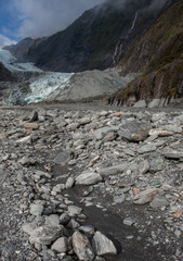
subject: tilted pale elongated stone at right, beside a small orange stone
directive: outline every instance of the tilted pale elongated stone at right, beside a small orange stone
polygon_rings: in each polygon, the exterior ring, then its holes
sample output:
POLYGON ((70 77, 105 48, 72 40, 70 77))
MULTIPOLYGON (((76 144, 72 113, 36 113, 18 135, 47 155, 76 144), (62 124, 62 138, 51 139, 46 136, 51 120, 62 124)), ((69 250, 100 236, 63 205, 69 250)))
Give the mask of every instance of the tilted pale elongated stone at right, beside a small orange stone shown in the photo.
POLYGON ((146 189, 144 191, 141 191, 140 194, 134 196, 133 202, 135 204, 148 203, 154 199, 154 197, 158 194, 158 191, 159 190, 157 188, 149 188, 149 189, 146 189))

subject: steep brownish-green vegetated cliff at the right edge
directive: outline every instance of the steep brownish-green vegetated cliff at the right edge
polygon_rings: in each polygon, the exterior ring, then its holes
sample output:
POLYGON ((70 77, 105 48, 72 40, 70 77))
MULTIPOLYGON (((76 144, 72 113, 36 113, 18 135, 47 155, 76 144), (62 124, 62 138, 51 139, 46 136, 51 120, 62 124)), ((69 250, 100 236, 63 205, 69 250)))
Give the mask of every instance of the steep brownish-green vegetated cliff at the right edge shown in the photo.
POLYGON ((183 97, 183 0, 175 1, 118 63, 122 74, 141 73, 109 98, 118 103, 183 97))

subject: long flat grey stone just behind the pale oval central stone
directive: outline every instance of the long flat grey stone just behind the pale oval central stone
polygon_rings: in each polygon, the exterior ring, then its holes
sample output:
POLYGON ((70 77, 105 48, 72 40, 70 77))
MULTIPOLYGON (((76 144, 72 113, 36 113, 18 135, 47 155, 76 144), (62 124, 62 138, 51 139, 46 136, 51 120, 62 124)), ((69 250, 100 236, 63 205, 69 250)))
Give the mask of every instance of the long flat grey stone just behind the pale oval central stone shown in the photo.
POLYGON ((122 173, 128 167, 128 163, 121 163, 118 165, 101 169, 97 172, 101 174, 101 176, 104 177, 109 175, 116 175, 122 173))

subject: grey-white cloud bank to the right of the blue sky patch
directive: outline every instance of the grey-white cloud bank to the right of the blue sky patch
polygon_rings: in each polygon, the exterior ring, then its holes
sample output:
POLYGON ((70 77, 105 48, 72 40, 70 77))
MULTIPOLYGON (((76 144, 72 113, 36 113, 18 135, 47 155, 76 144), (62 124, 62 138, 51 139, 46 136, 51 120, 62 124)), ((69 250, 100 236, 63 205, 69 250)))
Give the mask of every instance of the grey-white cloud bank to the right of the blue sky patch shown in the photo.
POLYGON ((18 37, 43 37, 66 28, 83 11, 104 0, 12 0, 18 37))

